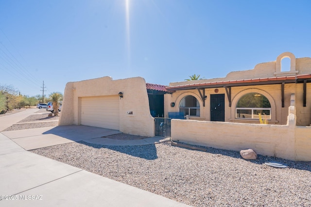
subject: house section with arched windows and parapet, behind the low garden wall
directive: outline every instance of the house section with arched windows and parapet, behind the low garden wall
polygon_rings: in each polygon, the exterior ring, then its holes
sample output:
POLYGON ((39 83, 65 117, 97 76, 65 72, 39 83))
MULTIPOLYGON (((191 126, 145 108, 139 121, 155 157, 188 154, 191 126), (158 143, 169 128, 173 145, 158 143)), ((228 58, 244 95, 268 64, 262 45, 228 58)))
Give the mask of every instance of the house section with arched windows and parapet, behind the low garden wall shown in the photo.
POLYGON ((284 52, 276 61, 254 69, 230 72, 225 78, 173 82, 166 87, 165 115, 182 111, 190 119, 259 123, 263 113, 269 124, 286 125, 290 97, 295 94, 297 125, 311 124, 311 58, 284 52), (290 70, 282 70, 289 58, 290 70), (174 107, 172 107, 174 106, 174 107))

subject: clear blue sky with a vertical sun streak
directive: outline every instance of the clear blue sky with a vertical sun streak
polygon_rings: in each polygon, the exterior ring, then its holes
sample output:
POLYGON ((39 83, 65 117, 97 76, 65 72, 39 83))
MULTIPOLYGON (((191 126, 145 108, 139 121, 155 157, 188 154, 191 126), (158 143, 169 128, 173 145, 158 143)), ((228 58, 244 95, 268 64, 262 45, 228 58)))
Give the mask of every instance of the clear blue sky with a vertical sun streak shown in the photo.
POLYGON ((104 76, 168 85, 311 57, 310 11, 310 0, 0 0, 0 85, 30 96, 43 80, 45 94, 104 76))

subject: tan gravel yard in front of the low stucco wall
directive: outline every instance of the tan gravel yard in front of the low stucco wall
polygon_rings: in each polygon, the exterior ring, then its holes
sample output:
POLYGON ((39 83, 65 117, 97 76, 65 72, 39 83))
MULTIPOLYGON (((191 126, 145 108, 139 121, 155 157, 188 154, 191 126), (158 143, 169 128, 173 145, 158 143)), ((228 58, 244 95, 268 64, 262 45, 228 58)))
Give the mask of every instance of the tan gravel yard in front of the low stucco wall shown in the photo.
POLYGON ((103 146, 67 143, 32 150, 89 172, 191 206, 310 207, 311 162, 206 147, 207 152, 171 146, 103 146), (264 164, 279 161, 289 168, 264 164))

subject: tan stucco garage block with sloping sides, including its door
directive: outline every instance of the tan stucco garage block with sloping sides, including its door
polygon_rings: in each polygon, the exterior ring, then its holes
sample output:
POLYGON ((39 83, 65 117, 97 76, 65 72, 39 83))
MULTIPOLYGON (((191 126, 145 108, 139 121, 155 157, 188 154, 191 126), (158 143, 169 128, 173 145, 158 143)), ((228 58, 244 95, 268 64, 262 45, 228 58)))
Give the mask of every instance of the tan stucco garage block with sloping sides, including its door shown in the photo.
POLYGON ((146 82, 143 78, 103 77, 68 82, 59 125, 86 125, 154 136, 146 82))

